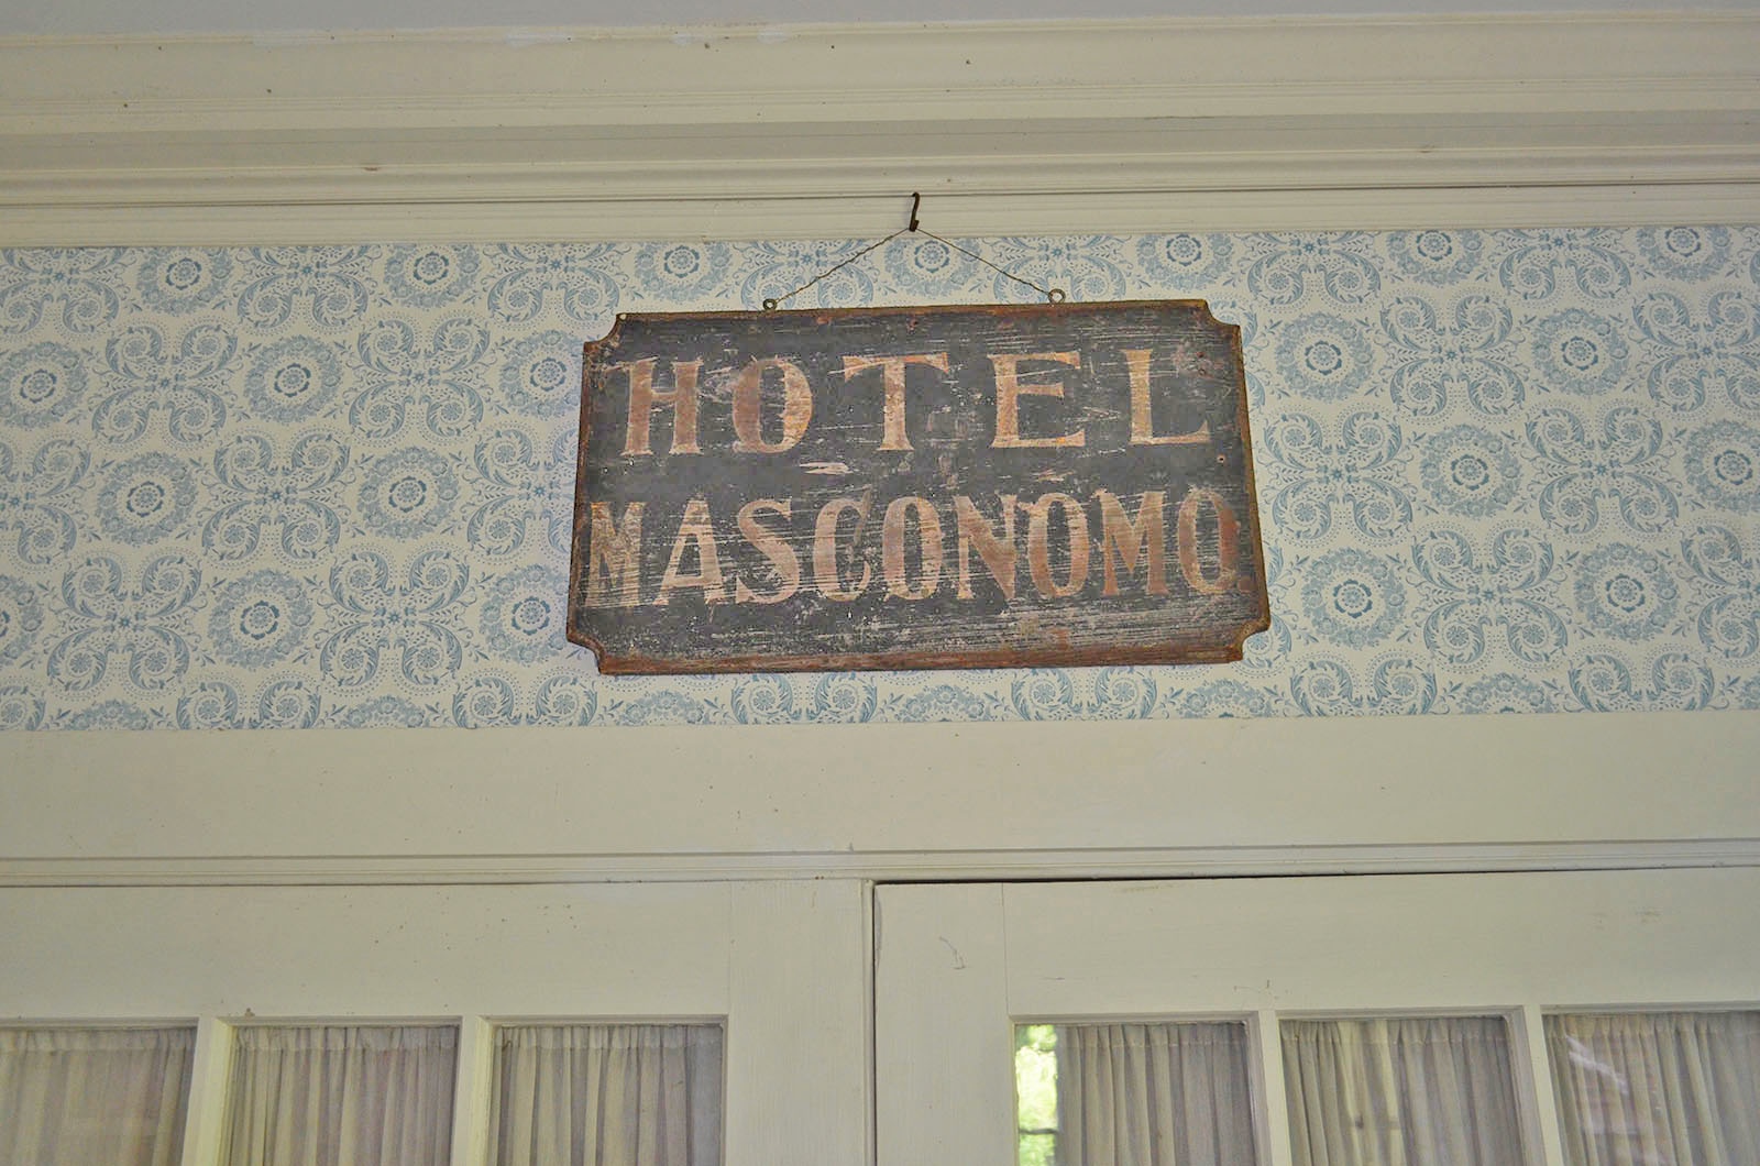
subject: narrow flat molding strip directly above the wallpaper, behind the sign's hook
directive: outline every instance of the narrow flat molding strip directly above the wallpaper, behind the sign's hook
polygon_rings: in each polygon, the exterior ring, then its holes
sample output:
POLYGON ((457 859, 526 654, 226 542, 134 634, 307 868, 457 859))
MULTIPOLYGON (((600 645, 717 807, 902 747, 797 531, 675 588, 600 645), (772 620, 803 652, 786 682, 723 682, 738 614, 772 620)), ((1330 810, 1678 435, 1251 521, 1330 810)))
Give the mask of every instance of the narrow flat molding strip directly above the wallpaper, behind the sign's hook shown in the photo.
MULTIPOLYGON (((905 197, 572 203, 262 203, 7 206, 0 247, 252 247, 294 243, 519 243, 878 238, 905 197)), ((1760 183, 1228 190, 1104 196, 993 194, 926 201, 954 238, 1160 231, 1415 231, 1760 222, 1760 183)))

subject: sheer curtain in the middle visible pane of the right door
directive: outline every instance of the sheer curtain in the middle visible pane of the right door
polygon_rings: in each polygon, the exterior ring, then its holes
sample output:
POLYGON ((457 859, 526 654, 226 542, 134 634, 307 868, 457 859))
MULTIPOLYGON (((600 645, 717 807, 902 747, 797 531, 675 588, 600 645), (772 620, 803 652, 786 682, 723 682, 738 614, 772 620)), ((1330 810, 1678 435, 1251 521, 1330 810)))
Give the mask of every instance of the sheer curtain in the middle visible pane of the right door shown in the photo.
POLYGON ((1285 1022, 1283 1074, 1295 1166, 1524 1161, 1494 1016, 1285 1022))

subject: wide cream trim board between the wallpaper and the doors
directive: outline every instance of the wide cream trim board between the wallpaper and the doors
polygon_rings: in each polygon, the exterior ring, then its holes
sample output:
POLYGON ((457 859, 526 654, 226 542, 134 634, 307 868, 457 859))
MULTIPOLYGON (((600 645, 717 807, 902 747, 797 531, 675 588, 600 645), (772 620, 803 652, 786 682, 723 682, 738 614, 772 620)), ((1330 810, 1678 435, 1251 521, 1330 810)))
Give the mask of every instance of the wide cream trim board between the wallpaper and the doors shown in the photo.
POLYGON ((0 888, 1760 865, 1760 713, 0 734, 0 888))

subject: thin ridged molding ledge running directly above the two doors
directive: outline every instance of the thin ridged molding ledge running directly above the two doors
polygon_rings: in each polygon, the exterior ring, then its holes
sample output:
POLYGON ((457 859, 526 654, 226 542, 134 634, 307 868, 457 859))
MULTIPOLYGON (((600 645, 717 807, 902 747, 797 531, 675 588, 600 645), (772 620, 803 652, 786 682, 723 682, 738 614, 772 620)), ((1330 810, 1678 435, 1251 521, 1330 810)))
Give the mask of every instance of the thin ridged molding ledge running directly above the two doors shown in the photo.
POLYGON ((429 858, 0 860, 0 888, 410 886, 873 879, 1218 879, 1508 870, 1760 867, 1760 838, 1482 845, 920 851, 875 854, 546 854, 429 858))

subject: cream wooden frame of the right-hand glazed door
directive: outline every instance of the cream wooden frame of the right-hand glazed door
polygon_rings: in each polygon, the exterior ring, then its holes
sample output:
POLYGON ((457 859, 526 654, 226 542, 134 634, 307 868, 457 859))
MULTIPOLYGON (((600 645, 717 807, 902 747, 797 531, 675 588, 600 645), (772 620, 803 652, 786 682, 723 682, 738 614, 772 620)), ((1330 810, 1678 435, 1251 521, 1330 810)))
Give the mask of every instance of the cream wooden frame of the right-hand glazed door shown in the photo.
POLYGON ((1292 1161, 1278 1023, 1503 1015, 1529 1166, 1561 1166, 1542 1016, 1760 1006, 1760 870, 884 886, 878 1166, 1016 1161, 1014 1027, 1236 1018, 1258 1161, 1292 1161))

